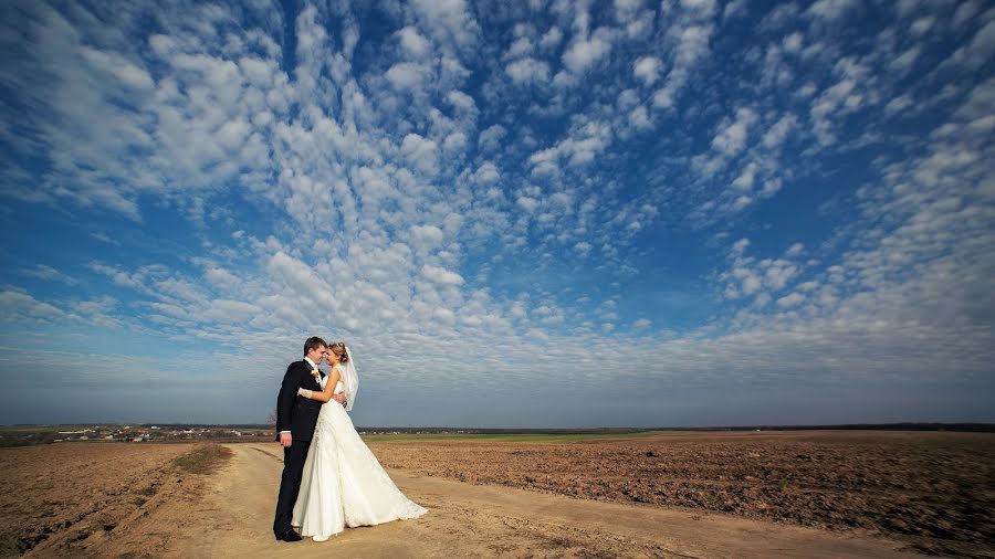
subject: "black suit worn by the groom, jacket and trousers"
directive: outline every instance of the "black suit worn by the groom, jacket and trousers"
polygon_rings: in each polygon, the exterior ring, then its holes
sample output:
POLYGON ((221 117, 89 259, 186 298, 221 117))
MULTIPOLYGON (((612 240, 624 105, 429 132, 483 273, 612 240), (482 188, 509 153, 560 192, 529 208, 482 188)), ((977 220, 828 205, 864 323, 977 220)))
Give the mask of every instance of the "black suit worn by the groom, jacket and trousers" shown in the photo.
MULTIPOLYGON (((298 388, 322 389, 311 375, 312 370, 311 363, 304 360, 290 363, 276 397, 276 440, 280 440, 281 431, 290 431, 293 439, 290 449, 283 449, 283 475, 280 478, 276 516, 273 519, 273 532, 277 536, 291 529, 304 461, 307 458, 311 437, 314 436, 317 414, 322 410, 322 402, 297 395, 298 388)), ((324 378, 324 373, 322 377, 324 378)))

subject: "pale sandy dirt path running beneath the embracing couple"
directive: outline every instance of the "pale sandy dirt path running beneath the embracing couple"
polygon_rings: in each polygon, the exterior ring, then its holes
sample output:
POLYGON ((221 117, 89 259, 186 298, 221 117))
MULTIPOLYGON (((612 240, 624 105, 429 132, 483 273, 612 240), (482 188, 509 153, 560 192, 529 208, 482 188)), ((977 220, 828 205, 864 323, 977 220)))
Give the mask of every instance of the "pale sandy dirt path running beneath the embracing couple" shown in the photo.
MULTIPOLYGON (((347 529, 322 544, 271 534, 282 467, 275 444, 231 445, 213 476, 201 528, 172 538, 170 553, 211 557, 915 557, 899 544, 682 509, 572 499, 391 471, 429 514, 347 529), (202 527, 208 526, 208 529, 202 527)), ((187 531, 187 530, 184 530, 187 531)))

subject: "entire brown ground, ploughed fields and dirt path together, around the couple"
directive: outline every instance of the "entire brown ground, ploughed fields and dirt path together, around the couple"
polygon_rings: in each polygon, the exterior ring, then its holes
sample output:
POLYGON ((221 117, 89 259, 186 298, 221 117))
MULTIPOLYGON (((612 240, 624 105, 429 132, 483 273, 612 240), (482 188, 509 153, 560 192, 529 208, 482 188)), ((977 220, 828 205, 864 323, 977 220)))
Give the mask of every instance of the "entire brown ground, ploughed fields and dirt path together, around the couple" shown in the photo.
POLYGON ((370 447, 429 514, 292 545, 271 532, 275 443, 0 450, 0 556, 995 557, 995 435, 370 447))

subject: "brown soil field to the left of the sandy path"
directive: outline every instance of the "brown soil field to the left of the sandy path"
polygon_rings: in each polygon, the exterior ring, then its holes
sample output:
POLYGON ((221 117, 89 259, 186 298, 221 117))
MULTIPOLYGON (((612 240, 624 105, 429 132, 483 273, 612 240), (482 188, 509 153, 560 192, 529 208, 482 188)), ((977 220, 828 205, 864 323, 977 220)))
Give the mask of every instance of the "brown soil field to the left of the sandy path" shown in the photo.
POLYGON ((148 521, 149 515, 164 505, 197 503, 208 463, 219 462, 218 449, 229 453, 219 446, 206 449, 192 443, 3 449, 0 556, 156 555, 169 535, 160 520, 148 521))

